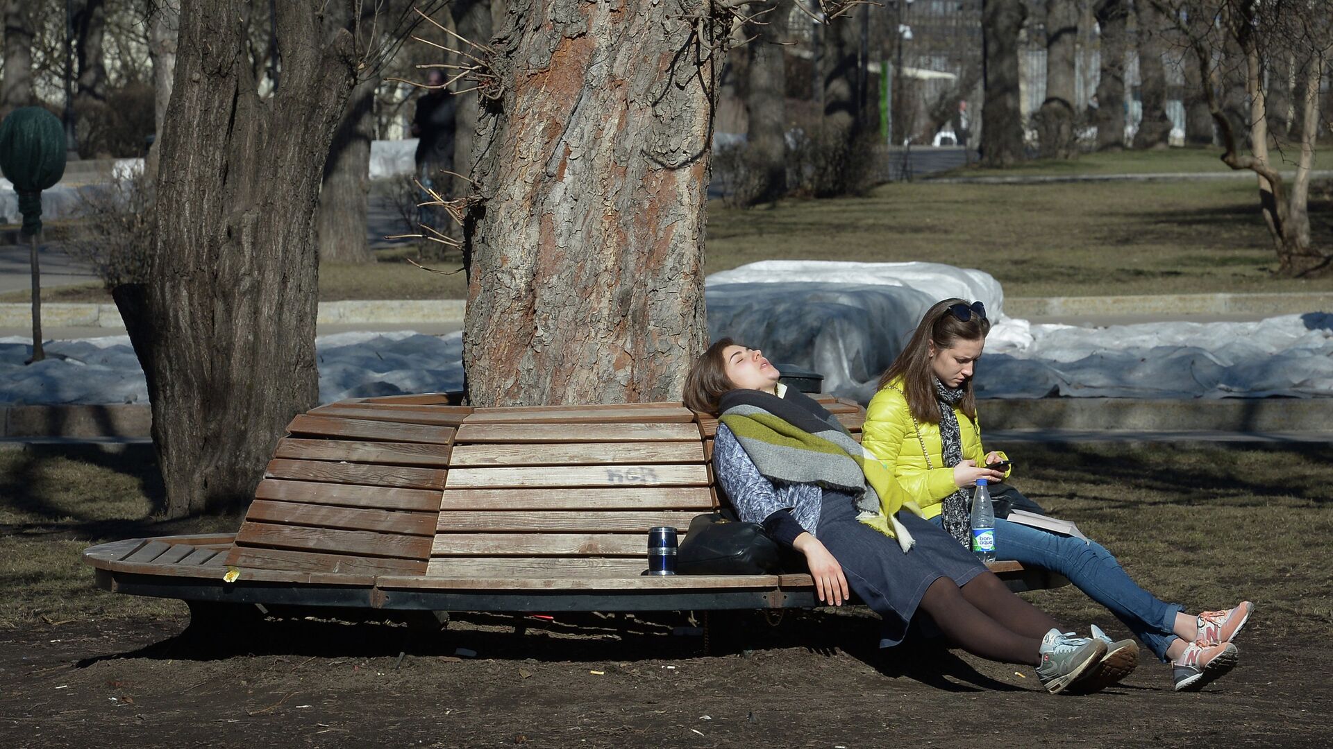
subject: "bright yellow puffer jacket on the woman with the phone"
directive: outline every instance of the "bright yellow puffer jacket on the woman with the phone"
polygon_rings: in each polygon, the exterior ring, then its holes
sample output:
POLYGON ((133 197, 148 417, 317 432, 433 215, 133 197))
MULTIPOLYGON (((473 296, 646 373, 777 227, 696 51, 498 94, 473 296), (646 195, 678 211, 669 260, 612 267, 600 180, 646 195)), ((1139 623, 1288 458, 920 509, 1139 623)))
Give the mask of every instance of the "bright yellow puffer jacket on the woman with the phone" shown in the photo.
MULTIPOLYGON (((953 469, 944 465, 940 425, 929 421, 918 422, 921 436, 917 438, 917 430, 912 425, 912 412, 901 388, 902 380, 894 380, 870 398, 870 405, 865 410, 865 424, 861 426, 861 446, 870 450, 893 472, 902 490, 921 505, 922 517, 930 518, 940 514, 940 502, 958 486, 953 482, 953 469), (922 442, 929 450, 929 462, 926 453, 921 450, 922 442)), ((970 458, 977 461, 977 465, 985 465, 986 452, 981 446, 981 425, 958 409, 953 409, 953 413, 958 417, 958 432, 962 434, 964 460, 970 458)), ((1006 473, 1005 477, 1008 476, 1006 473)))

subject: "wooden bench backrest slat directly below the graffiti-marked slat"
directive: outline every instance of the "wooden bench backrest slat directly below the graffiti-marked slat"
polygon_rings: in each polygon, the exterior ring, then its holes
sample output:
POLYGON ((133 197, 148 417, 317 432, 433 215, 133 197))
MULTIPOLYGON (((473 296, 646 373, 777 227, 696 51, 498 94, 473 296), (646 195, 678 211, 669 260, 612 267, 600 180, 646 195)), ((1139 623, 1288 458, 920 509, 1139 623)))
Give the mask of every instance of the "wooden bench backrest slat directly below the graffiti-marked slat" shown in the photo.
POLYGON ((505 509, 690 509, 706 512, 712 506, 702 486, 668 486, 660 489, 445 489, 440 501, 443 512, 505 509))

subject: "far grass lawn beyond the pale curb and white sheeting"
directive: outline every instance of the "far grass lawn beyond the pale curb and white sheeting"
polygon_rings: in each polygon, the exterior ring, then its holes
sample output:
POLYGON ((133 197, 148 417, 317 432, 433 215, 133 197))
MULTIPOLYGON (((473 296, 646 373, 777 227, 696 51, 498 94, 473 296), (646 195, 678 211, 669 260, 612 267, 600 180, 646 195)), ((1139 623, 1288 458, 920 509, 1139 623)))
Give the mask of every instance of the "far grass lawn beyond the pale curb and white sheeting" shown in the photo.
MULTIPOLYGON (((1210 149, 1090 153, 1004 172, 1225 171, 1210 149)), ((1333 204, 1314 191, 1316 243, 1333 241, 1333 204)), ((463 273, 428 273, 380 251, 371 265, 325 264, 320 299, 463 299, 463 273)), ((1009 296, 1333 291, 1333 277, 1273 276, 1276 255, 1253 180, 1038 185, 893 183, 866 197, 784 200, 753 209, 709 205, 708 272, 770 259, 946 263, 980 268, 1009 296)), ((455 263, 427 263, 453 269, 455 263)), ((11 292, 0 301, 25 301, 11 292)), ((109 301, 96 284, 51 289, 48 301, 109 301)))

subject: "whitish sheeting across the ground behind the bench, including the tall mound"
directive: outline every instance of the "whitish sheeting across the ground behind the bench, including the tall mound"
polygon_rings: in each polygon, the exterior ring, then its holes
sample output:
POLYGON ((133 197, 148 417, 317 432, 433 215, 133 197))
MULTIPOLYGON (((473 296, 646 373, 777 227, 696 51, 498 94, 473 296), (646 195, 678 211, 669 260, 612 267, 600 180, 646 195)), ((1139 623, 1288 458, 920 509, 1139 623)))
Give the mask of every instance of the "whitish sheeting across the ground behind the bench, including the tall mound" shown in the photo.
MULTIPOLYGON (((860 400, 930 304, 985 301, 997 320, 977 368, 984 397, 1192 398, 1333 394, 1333 315, 1257 323, 1030 325, 1000 316, 986 273, 928 263, 762 263, 708 279, 709 333, 814 369, 860 400)), ((0 402, 147 402, 125 336, 52 341, 24 365, 28 339, 0 339, 0 402)), ((316 339, 320 401, 463 386, 461 336, 340 333, 316 339)))

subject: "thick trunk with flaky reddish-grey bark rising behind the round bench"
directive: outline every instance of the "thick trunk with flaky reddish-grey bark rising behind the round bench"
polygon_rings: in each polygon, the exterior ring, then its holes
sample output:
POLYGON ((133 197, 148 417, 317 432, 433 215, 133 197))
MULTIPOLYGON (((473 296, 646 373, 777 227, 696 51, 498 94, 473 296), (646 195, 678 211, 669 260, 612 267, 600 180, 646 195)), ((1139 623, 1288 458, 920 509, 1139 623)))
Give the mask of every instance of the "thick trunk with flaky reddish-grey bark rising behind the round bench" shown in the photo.
POLYGON ((708 336, 710 9, 508 3, 467 231, 473 405, 680 398, 708 336))

